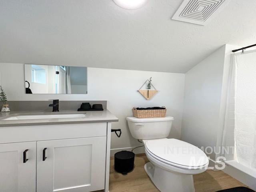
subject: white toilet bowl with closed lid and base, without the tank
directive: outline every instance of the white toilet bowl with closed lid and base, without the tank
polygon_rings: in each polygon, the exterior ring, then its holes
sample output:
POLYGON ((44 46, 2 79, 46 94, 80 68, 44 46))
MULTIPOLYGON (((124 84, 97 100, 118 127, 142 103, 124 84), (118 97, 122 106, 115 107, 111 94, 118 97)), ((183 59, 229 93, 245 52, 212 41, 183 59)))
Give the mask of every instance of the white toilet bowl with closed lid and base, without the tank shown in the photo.
POLYGON ((146 140, 150 162, 144 168, 161 192, 194 192, 193 175, 204 172, 208 158, 196 146, 176 139, 146 140))

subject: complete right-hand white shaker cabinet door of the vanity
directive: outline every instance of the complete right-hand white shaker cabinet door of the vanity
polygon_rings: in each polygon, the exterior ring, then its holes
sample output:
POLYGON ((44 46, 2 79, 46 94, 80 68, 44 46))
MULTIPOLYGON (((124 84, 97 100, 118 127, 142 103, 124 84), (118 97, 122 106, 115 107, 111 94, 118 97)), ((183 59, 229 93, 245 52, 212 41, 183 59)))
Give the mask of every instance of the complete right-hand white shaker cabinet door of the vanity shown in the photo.
POLYGON ((104 189, 106 137, 37 143, 37 192, 104 189))

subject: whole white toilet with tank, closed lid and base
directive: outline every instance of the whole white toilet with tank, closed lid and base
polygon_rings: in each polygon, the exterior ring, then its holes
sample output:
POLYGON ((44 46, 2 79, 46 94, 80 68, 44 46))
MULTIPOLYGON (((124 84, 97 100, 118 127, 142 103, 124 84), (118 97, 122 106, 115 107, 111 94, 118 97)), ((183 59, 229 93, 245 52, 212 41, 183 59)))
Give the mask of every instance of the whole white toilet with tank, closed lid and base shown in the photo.
POLYGON ((161 192, 194 192, 193 175, 208 168, 209 159, 198 147, 168 139, 173 117, 127 117, 132 136, 142 140, 150 162, 144 169, 161 192))

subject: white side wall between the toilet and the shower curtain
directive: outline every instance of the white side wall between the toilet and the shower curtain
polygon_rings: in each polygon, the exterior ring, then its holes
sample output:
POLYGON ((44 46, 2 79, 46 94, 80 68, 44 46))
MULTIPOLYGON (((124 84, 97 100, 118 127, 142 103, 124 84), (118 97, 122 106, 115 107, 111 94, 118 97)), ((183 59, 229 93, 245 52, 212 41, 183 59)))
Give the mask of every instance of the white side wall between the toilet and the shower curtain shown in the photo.
MULTIPOLYGON (((222 143, 230 52, 224 45, 186 73, 182 140, 198 147, 222 143)), ((216 154, 209 155, 216 160, 216 154)))

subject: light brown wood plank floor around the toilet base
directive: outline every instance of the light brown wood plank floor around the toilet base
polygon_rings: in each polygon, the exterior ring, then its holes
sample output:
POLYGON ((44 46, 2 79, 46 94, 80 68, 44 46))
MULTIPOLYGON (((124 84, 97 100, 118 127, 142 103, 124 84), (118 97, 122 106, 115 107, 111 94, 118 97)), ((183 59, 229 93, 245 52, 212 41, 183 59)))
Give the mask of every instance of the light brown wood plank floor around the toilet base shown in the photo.
MULTIPOLYGON (((135 157, 135 168, 127 175, 115 172, 114 160, 110 161, 110 192, 159 192, 144 171, 148 162, 145 155, 135 157)), ((194 176, 196 192, 216 192, 218 190, 245 186, 222 171, 207 170, 194 176)), ((170 190, 171 192, 171 190, 170 190)))

